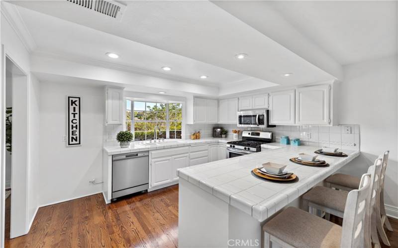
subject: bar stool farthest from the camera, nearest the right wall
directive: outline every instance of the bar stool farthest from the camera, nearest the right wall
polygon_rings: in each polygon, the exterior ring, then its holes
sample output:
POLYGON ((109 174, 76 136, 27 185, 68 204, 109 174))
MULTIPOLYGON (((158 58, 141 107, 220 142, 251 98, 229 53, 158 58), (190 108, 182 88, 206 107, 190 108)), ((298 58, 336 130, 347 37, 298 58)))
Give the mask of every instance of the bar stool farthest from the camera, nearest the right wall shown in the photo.
MULTIPOLYGON (((385 151, 383 155, 380 155, 379 158, 383 158, 383 168, 382 168, 382 173, 380 176, 380 190, 378 192, 378 198, 377 198, 377 207, 375 209, 376 211, 376 225, 377 225, 377 230, 380 234, 380 237, 383 241, 383 243, 386 246, 390 246, 390 241, 387 237, 387 234, 384 230, 384 225, 386 225, 387 230, 393 231, 393 227, 390 224, 389 219, 387 218, 386 214, 386 208, 384 205, 384 179, 386 175, 386 168, 388 164, 388 159, 389 159, 389 153, 390 151, 385 151), (381 216, 378 218, 378 216, 381 216)), ((355 188, 358 188, 359 186, 359 179, 357 177, 353 177, 350 175, 345 175, 345 174, 334 174, 330 177, 328 177, 325 180, 326 183, 330 184, 330 187, 336 188, 336 189, 342 189, 342 190, 352 190, 355 188)))

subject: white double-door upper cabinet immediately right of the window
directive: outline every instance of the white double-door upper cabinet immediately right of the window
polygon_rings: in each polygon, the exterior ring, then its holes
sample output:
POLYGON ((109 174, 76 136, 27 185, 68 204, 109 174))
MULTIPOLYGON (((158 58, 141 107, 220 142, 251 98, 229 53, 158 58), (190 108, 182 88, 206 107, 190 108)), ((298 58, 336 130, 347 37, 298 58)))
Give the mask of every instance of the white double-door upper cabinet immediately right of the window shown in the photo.
POLYGON ((214 99, 194 99, 194 123, 217 123, 218 101, 214 99))

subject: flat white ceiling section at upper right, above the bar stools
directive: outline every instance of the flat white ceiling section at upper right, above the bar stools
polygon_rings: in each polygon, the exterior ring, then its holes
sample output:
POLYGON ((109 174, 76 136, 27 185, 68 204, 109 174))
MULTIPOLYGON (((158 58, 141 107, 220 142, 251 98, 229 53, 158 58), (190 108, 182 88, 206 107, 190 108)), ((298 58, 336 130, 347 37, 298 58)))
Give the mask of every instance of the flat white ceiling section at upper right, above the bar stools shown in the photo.
POLYGON ((398 1, 267 1, 340 64, 397 54, 398 1))

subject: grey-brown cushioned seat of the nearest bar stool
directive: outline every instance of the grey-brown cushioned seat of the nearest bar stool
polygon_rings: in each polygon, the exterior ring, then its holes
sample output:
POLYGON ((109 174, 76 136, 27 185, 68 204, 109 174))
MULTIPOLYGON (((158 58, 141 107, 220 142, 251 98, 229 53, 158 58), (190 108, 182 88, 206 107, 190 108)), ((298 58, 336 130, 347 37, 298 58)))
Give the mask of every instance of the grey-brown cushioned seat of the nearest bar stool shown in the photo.
POLYGON ((340 247, 342 228, 295 207, 288 207, 263 226, 263 231, 298 248, 340 247))

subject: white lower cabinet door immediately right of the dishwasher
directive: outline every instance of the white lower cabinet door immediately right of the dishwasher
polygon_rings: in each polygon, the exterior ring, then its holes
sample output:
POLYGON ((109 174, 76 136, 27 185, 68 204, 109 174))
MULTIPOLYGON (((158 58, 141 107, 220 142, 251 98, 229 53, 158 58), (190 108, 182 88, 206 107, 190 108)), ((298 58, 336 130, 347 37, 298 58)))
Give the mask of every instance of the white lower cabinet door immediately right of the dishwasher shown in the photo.
POLYGON ((151 161, 151 187, 171 183, 173 172, 173 158, 165 157, 151 161))

